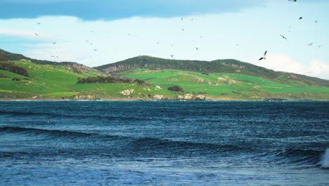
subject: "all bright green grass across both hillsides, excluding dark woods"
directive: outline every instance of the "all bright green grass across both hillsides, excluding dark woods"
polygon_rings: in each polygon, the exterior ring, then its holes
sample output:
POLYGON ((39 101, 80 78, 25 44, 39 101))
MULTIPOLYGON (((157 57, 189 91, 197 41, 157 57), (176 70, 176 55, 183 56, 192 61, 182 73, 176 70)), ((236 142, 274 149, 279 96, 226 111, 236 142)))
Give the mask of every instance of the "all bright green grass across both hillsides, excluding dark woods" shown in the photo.
POLYGON ((65 66, 37 65, 13 61, 28 77, 0 70, 0 99, 180 99, 186 94, 206 95, 214 100, 329 100, 329 88, 307 85, 284 75, 268 80, 240 73, 196 73, 183 70, 136 69, 120 75, 144 80, 148 85, 125 83, 77 84, 78 78, 105 76, 65 66), (13 80, 19 78, 19 81, 13 80), (184 92, 167 90, 182 87, 184 92))

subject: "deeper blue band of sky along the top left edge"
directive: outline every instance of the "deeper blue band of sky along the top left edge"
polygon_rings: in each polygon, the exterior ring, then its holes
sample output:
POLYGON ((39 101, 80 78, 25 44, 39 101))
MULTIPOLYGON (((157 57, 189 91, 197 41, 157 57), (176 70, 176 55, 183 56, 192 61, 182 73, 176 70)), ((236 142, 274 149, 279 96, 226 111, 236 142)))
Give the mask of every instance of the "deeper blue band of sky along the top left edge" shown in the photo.
POLYGON ((83 20, 134 16, 170 18, 193 13, 238 11, 255 5, 257 1, 245 0, 1 0, 0 17, 75 16, 83 20))

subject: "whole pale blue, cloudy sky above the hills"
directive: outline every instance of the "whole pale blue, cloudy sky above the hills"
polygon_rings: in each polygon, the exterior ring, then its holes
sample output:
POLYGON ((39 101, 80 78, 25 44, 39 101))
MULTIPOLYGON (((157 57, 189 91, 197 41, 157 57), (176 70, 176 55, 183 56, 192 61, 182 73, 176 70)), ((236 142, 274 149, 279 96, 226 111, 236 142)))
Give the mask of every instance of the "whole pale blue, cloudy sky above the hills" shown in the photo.
POLYGON ((329 80, 328 10, 327 0, 0 0, 0 49, 91 67, 234 58, 329 80))

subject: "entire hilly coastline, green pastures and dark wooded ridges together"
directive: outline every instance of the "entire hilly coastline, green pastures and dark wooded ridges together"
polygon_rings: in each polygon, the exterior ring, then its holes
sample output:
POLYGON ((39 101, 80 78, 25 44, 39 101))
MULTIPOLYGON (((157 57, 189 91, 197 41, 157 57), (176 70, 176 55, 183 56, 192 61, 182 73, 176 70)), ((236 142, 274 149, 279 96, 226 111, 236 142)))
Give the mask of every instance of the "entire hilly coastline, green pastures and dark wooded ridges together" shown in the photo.
POLYGON ((9 59, 0 62, 0 99, 329 100, 328 80, 236 60, 139 56, 95 70, 1 50, 0 56, 9 59))

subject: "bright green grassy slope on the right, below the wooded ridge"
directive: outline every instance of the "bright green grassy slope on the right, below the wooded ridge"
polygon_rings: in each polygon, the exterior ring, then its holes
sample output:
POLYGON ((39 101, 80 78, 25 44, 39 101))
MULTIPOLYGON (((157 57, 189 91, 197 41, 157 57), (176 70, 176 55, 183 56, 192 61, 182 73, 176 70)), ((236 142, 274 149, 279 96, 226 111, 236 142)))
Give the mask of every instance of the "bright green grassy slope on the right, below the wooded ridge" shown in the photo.
POLYGON ((197 73, 184 70, 136 69, 119 73, 124 77, 144 80, 150 85, 167 89, 178 85, 185 92, 205 92, 212 99, 288 99, 329 100, 329 87, 309 85, 287 78, 286 75, 270 80, 240 73, 197 73))

